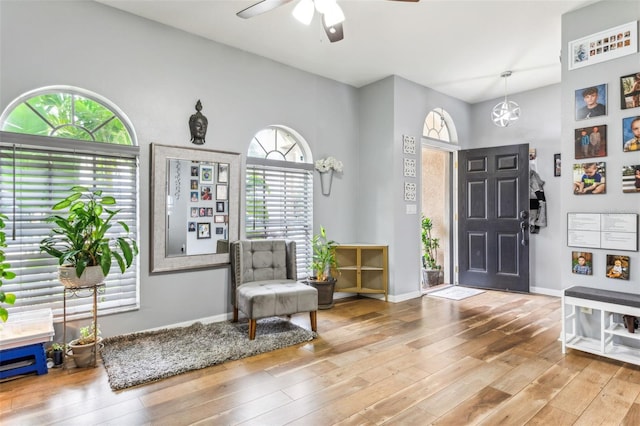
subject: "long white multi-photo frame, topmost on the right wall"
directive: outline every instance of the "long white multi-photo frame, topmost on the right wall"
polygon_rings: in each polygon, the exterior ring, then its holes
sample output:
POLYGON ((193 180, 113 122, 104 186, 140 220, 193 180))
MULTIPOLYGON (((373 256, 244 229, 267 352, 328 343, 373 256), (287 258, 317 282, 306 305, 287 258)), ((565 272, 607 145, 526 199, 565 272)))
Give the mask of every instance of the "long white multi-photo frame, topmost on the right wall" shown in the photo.
POLYGON ((637 51, 638 21, 632 21, 570 41, 567 67, 571 71, 637 51))

